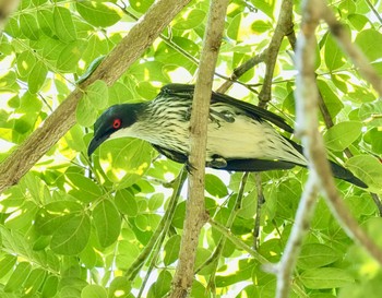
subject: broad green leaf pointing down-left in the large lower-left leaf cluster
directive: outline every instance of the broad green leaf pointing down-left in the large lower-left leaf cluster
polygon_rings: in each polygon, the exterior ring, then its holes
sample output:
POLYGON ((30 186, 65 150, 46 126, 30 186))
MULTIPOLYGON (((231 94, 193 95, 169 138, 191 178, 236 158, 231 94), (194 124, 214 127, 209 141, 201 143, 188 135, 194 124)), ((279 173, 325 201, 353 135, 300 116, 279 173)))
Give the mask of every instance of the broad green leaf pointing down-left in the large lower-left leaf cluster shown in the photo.
POLYGON ((91 218, 88 215, 73 215, 53 233, 50 248, 59 254, 77 254, 86 247, 89 236, 91 218))

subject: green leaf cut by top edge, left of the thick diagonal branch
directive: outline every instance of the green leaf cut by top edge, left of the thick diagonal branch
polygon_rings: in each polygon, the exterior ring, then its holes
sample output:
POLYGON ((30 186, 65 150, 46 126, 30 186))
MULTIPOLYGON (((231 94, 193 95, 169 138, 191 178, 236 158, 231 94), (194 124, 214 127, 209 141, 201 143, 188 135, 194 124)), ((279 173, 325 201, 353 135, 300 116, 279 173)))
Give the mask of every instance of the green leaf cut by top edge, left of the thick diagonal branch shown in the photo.
MULTIPOLYGON (((146 3, 144 1, 143 3, 146 3)), ((132 4, 132 2, 130 2, 132 4)), ((108 27, 116 24, 121 15, 116 5, 102 1, 76 1, 77 12, 86 22, 94 26, 108 27)))

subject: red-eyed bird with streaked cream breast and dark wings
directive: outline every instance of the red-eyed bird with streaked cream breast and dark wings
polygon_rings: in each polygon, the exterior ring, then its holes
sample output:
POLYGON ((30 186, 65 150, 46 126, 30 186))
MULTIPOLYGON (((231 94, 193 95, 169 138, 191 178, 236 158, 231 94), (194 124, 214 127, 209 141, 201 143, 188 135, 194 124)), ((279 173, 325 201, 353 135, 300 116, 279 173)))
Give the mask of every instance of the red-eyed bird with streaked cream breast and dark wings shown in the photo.
MULTIPOLYGON (((194 85, 171 83, 163 86, 151 102, 109 107, 94 123, 88 156, 106 140, 129 136, 150 142, 159 154, 171 160, 188 164, 193 93, 194 85)), ((302 146, 279 130, 294 133, 283 117, 212 92, 205 165, 228 171, 307 167, 302 146)), ((334 177, 359 188, 368 188, 345 167, 333 160, 330 160, 330 165, 334 177)))

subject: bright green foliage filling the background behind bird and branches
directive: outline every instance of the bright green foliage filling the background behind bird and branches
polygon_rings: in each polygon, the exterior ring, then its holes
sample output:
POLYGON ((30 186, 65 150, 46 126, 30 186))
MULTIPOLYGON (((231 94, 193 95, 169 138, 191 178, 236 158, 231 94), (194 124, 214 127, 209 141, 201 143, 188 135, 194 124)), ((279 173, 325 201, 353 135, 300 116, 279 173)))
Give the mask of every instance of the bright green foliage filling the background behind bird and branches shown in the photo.
MULTIPOLYGON (((86 76, 92 62, 107 55, 152 2, 21 2, 0 37, 0 159, 40 126, 81 75, 86 76)), ((279 4, 231 1, 216 86, 268 46, 279 4)), ((382 75, 377 46, 382 44, 381 20, 372 11, 381 10, 381 2, 341 0, 330 5, 382 75)), ((184 193, 178 203, 171 201, 169 187, 174 183, 169 182, 181 166, 158 157, 139 140, 107 142, 92 160, 86 146, 93 134, 91 127, 106 106, 150 100, 166 83, 192 82, 207 9, 207 1, 192 1, 116 84, 107 87, 97 81, 84 91, 76 110, 77 124, 19 184, 1 194, 1 297, 154 298, 169 291, 186 206, 184 193), (148 252, 142 260, 145 247, 148 252)), ((299 12, 296 3, 297 32, 299 12)), ((375 100, 375 92, 325 25, 318 32, 317 53, 312 55, 317 55, 319 88, 334 121, 326 129, 322 120, 327 148, 333 158, 343 160, 372 191, 382 194, 378 157, 382 153, 381 102, 375 100), (344 156, 346 148, 354 157, 344 156)), ((270 109, 289 123, 295 115, 295 74, 293 50, 285 38, 270 109)), ((256 103, 263 82, 264 67, 260 64, 242 75, 229 94, 256 103)), ((236 241, 256 243, 263 258, 277 262, 294 224, 307 170, 270 171, 261 177, 265 203, 259 213, 253 175, 237 210, 242 175, 208 171, 207 211, 216 223, 232 222, 230 231, 236 240, 225 241, 216 258, 210 259, 223 236, 210 225, 203 228, 192 297, 211 297, 212 293, 218 297, 274 297, 275 276, 264 272, 236 241), (261 233, 254 239, 258 215, 261 233)), ((337 181, 337 187, 360 225, 382 245, 382 220, 370 194, 344 181, 337 181)), ((291 296, 363 297, 367 293, 379 297, 381 275, 379 265, 351 242, 320 201, 299 255, 291 296)))

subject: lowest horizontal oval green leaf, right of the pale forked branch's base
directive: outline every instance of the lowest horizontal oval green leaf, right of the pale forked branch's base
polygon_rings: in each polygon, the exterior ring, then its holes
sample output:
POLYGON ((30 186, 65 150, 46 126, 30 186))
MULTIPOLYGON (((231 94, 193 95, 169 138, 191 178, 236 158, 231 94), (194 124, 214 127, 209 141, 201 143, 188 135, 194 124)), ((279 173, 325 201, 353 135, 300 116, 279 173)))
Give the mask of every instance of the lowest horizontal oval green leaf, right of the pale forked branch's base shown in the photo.
POLYGON ((349 272, 335 267, 307 270, 301 273, 300 278, 311 289, 338 288, 355 282, 349 272))

